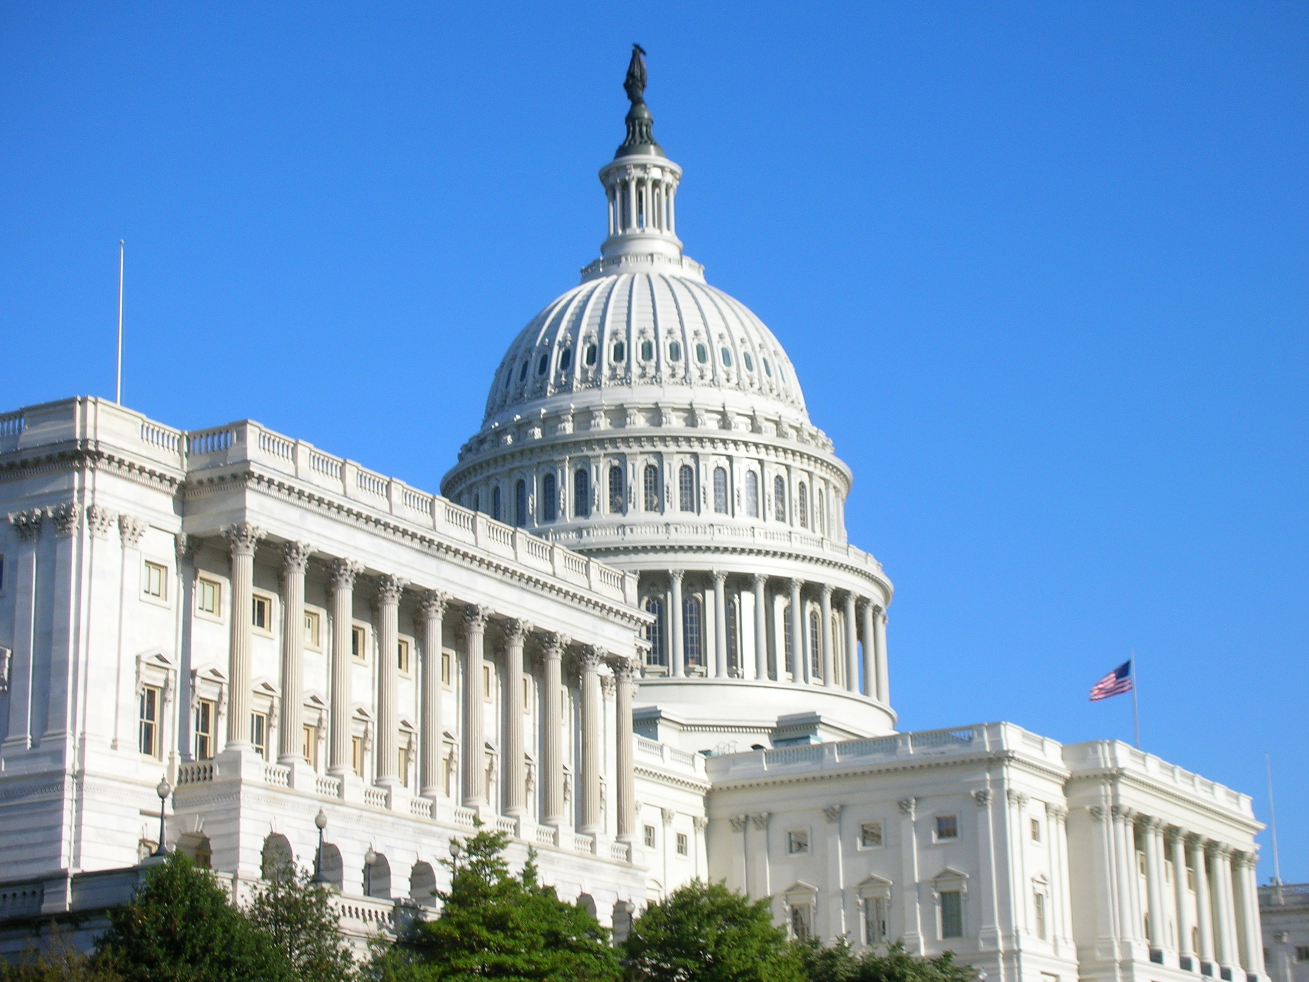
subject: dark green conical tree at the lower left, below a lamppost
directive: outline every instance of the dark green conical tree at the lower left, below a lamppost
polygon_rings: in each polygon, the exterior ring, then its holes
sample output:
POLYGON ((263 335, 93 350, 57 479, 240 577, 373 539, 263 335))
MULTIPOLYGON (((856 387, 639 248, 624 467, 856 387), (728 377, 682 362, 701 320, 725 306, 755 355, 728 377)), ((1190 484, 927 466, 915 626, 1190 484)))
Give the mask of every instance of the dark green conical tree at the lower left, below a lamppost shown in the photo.
POLYGON ((152 868, 131 903, 109 911, 97 962, 126 982, 284 982, 295 978, 266 935, 182 852, 152 868))

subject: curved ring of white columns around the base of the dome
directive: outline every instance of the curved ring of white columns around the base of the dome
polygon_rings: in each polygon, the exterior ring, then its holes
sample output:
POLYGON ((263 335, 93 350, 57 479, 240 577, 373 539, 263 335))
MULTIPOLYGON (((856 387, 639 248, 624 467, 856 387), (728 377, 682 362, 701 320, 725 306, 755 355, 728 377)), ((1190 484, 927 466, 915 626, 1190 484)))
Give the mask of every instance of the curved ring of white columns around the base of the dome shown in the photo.
POLYGON ((764 573, 670 570, 666 575, 651 572, 644 576, 657 577, 645 589, 647 610, 653 598, 662 614, 654 628, 657 635, 652 634, 651 640, 658 640, 657 657, 662 657, 661 664, 670 676, 791 681, 842 687, 890 703, 886 610, 878 601, 830 583, 764 573), (753 651, 746 651, 745 644, 742 600, 746 596, 753 598, 754 606, 753 651), (779 597, 787 602, 788 613, 770 628, 775 609, 771 601, 779 597), (687 608, 689 600, 694 601, 691 608, 687 608), (704 613, 711 602, 712 639, 704 634, 704 613), (806 611, 814 609, 810 605, 816 605, 819 621, 817 639, 810 638, 809 631, 806 611), (839 643, 833 630, 834 613, 843 627, 839 643), (689 617, 699 617, 699 622, 689 623, 689 617))

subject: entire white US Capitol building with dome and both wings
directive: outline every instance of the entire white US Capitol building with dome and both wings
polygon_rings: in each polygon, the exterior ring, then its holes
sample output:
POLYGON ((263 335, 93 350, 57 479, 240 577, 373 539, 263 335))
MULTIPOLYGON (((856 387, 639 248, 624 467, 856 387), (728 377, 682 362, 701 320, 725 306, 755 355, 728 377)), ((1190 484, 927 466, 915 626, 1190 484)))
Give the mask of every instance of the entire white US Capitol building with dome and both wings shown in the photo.
POLYGON ((1264 982, 1247 796, 1117 741, 895 729, 851 471, 683 254, 639 50, 624 88, 600 258, 441 495, 253 420, 0 415, 0 949, 85 940, 162 804, 236 897, 321 854, 357 937, 480 822, 619 935, 699 876, 991 982, 1264 982))

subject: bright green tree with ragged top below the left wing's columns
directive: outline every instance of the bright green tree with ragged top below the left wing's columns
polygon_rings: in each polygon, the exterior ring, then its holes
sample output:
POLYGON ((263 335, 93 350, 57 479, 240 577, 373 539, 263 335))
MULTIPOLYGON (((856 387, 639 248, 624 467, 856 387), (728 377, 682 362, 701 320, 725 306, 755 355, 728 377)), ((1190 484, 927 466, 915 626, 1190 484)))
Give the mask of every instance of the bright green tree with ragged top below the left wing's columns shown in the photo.
POLYGON ((441 914, 418 923, 374 969, 382 979, 471 982, 618 982, 622 969, 607 931, 583 907, 539 882, 535 852, 514 877, 508 837, 478 831, 454 859, 441 914))

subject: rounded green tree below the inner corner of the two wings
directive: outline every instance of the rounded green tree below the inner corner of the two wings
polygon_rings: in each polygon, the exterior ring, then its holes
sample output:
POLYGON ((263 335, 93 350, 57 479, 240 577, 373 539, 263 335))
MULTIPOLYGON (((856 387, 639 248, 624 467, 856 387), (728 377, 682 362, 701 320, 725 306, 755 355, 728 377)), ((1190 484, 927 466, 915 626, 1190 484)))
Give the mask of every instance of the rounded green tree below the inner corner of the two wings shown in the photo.
POLYGON ((637 979, 802 982, 795 947, 772 923, 771 902, 694 880, 652 903, 623 941, 637 979))

